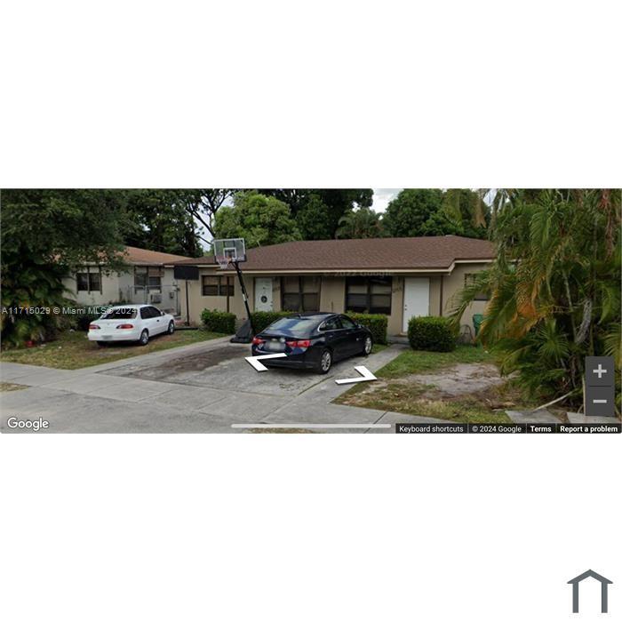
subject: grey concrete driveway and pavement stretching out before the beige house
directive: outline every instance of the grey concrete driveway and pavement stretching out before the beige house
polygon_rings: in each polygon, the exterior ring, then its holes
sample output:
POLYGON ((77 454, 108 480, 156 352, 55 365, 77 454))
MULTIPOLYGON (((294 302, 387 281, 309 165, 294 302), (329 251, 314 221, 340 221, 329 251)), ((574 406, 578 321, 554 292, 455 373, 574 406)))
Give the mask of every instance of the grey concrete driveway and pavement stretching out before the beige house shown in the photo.
POLYGON ((49 427, 37 434, 230 433, 257 424, 392 432, 395 421, 411 418, 331 401, 349 388, 335 379, 354 378, 355 365, 376 371, 402 350, 395 345, 367 358, 348 359, 325 376, 255 371, 244 360, 250 347, 227 338, 76 371, 0 363, 3 382, 28 387, 0 393, 0 431, 30 431, 10 427, 11 418, 41 418, 49 427), (385 427, 370 428, 377 424, 385 427))

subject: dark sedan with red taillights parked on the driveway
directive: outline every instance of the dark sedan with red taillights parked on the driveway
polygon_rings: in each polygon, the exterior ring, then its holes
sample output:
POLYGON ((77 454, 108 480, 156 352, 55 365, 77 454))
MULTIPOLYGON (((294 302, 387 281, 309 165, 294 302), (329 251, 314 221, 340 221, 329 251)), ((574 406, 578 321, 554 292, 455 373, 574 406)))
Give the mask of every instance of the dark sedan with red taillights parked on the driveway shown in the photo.
POLYGON ((332 363, 348 356, 369 355, 371 332, 347 315, 302 313, 282 317, 252 339, 252 355, 287 356, 264 360, 267 367, 314 369, 327 373, 332 363))

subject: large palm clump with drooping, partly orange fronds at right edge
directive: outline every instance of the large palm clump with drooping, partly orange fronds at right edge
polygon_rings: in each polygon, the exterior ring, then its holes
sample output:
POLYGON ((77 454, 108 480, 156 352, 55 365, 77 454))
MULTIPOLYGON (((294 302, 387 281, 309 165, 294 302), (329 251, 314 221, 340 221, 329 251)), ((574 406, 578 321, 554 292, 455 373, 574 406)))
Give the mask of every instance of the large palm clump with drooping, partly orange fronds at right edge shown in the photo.
POLYGON ((620 190, 502 193, 497 258, 454 300, 453 321, 487 292, 479 339, 501 371, 532 395, 579 403, 586 355, 622 363, 620 190))

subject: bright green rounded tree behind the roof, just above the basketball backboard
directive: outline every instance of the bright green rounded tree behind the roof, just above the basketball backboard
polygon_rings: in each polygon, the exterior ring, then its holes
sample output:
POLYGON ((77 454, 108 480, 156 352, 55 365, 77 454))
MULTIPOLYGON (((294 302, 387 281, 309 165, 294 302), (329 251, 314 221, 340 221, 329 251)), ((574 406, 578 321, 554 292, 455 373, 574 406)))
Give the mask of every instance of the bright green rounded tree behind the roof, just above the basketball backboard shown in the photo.
POLYGON ((286 203, 259 192, 239 192, 232 207, 216 214, 215 237, 243 237, 247 248, 300 240, 296 221, 286 203))

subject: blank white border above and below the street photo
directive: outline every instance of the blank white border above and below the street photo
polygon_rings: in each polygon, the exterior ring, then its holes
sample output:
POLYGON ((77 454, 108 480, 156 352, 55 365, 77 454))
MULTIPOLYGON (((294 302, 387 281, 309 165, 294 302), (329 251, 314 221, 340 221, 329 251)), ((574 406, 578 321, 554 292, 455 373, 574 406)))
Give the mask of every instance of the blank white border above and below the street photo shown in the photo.
MULTIPOLYGON (((618 6, 3 4, 0 186, 616 187, 618 6)), ((588 567, 613 618, 620 455, 3 435, 3 618, 552 622, 588 567)))

